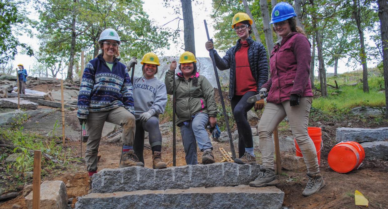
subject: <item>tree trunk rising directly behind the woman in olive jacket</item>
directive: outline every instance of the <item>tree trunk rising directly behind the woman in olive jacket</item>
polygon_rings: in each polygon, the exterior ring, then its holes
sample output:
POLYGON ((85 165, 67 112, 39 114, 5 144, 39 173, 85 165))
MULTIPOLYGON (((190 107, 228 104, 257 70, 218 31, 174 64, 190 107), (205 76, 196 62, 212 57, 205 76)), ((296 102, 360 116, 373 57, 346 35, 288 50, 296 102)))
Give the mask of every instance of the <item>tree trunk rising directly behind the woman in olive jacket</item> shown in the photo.
POLYGON ((185 51, 190 51, 195 56, 194 21, 191 9, 191 0, 180 0, 182 3, 185 51))

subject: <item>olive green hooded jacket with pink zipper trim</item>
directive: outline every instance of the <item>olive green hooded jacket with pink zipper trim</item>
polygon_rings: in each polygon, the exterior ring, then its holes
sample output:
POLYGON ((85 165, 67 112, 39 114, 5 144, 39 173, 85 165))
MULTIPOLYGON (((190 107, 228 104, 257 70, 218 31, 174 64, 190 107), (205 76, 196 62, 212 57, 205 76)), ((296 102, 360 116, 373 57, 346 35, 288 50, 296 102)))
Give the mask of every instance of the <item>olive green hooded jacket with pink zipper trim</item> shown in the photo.
MULTIPOLYGON (((217 105, 214 99, 214 88, 203 75, 193 75, 188 81, 185 80, 182 73, 177 73, 175 79, 175 105, 177 115, 177 125, 191 120, 192 115, 203 112, 210 117, 217 117, 217 105), (193 77, 197 77, 197 86, 193 86, 193 77)), ((174 72, 166 72, 165 84, 167 94, 173 94, 174 72)))

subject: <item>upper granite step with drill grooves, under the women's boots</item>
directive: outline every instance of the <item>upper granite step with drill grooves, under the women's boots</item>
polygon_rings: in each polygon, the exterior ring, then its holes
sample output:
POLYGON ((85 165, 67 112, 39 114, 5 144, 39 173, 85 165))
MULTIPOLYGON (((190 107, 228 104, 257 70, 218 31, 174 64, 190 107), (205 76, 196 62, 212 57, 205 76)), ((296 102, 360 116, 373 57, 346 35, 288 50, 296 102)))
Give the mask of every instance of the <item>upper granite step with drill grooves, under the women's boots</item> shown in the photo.
POLYGON ((227 187, 248 185, 255 180, 260 165, 212 163, 151 169, 128 167, 103 169, 93 175, 94 193, 135 190, 187 189, 190 187, 227 187))

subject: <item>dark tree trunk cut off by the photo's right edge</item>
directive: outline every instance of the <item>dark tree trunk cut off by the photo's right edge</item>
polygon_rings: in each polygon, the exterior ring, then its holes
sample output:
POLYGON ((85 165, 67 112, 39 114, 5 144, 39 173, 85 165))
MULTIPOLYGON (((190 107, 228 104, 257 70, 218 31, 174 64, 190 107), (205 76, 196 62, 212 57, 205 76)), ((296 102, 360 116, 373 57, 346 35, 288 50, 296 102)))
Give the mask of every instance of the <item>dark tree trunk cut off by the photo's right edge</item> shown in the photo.
POLYGON ((383 69, 385 83, 385 118, 388 119, 388 2, 377 0, 379 5, 379 19, 381 42, 383 48, 383 69))

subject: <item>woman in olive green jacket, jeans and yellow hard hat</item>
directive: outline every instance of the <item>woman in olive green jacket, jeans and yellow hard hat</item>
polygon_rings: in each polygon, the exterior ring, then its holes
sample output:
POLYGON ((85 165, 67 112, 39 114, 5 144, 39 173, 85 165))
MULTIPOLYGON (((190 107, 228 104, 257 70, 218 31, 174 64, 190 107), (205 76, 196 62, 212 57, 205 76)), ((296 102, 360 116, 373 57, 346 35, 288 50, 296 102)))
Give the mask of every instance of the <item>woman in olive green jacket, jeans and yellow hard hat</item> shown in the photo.
MULTIPOLYGON (((180 127, 182 143, 186 154, 186 164, 198 164, 197 143, 202 155, 202 164, 214 163, 213 146, 210 143, 206 126, 217 123, 217 105, 214 100, 214 89, 203 75, 197 72, 194 54, 185 51, 179 60, 179 69, 175 79, 175 107, 180 127)), ((173 79, 177 62, 174 60, 166 72, 165 84, 167 94, 173 93, 173 79)))

